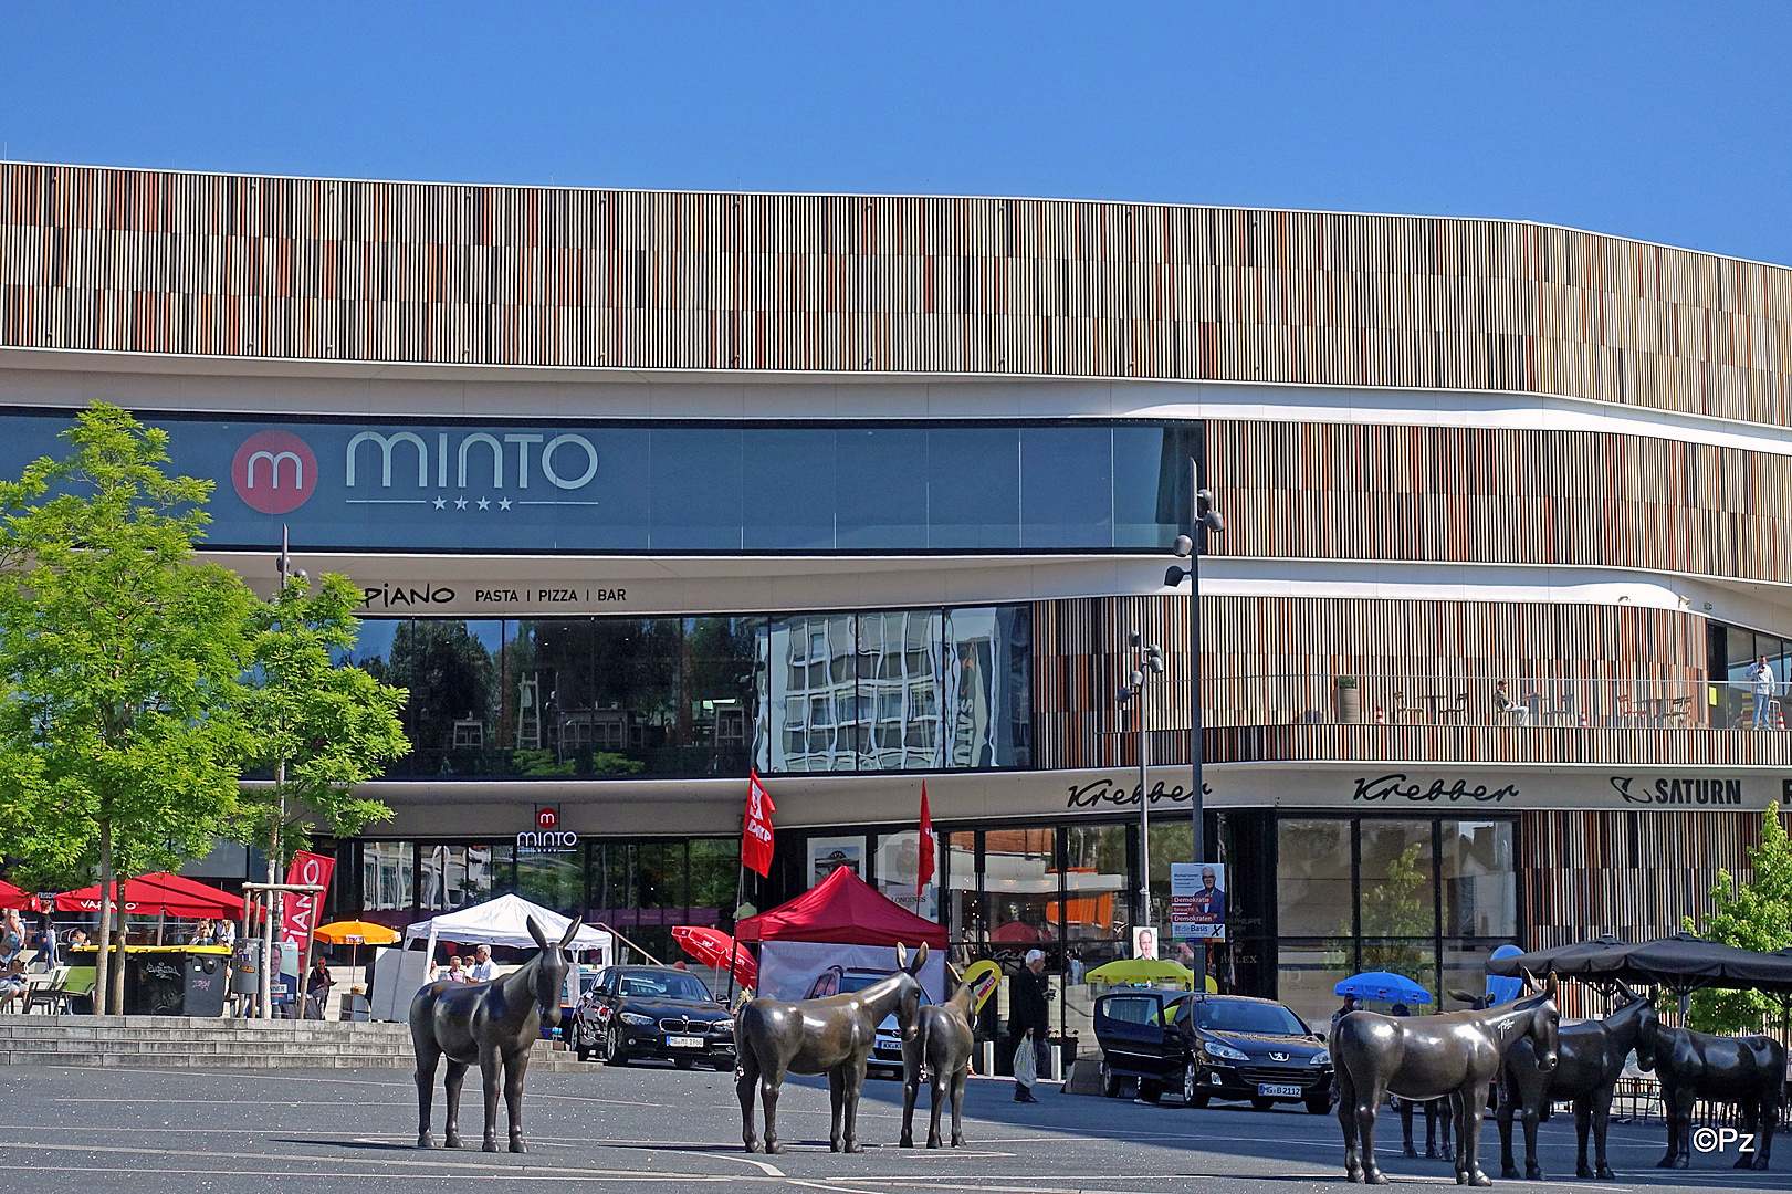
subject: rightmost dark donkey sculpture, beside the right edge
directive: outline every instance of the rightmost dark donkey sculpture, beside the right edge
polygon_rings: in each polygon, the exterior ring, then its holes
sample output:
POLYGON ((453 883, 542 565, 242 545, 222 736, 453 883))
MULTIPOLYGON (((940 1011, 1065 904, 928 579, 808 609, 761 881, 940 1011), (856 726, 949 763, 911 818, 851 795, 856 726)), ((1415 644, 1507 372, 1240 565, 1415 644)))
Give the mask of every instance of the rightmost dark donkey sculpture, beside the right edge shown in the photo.
POLYGON ((1686 1169, 1692 1164, 1692 1106, 1735 1103, 1740 1129, 1751 1142, 1736 1156, 1736 1169, 1767 1169, 1774 1155, 1774 1124, 1785 1099, 1787 1049, 1772 1036, 1711 1036, 1690 1029, 1656 1025, 1656 1077, 1668 1120, 1668 1151, 1656 1169, 1686 1169))

